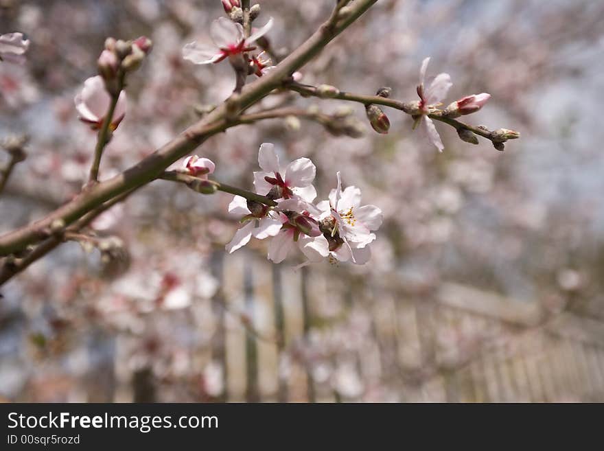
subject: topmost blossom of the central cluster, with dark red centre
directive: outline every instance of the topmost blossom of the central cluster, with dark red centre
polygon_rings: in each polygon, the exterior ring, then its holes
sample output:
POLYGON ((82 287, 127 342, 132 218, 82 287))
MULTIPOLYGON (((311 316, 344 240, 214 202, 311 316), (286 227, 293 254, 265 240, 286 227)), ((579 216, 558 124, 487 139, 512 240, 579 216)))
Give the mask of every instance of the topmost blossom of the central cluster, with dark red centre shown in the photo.
POLYGON ((258 164, 263 172, 254 172, 254 186, 257 194, 266 196, 273 187, 278 187, 278 198, 289 199, 294 196, 312 202, 316 190, 312 186, 316 167, 310 159, 299 158, 285 169, 279 165, 275 146, 263 143, 258 151, 258 164))

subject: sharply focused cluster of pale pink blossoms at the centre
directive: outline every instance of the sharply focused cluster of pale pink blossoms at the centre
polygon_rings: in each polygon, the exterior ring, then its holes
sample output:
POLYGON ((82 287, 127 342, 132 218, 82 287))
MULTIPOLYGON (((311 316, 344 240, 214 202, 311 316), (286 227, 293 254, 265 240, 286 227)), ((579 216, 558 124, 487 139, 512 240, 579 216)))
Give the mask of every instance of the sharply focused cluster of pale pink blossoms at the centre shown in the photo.
POLYGON ((283 167, 271 143, 263 143, 258 152, 262 171, 254 172, 256 194, 273 200, 270 206, 235 196, 229 213, 240 216, 244 223, 233 240, 227 244, 232 253, 247 244, 252 237, 259 240, 272 237, 268 259, 282 262, 295 248, 307 262, 351 261, 365 264, 371 257, 369 244, 382 224, 382 211, 374 205, 360 205, 357 187, 342 189, 338 185, 329 200, 314 204, 316 189, 312 185, 316 167, 307 158, 299 158, 283 167))

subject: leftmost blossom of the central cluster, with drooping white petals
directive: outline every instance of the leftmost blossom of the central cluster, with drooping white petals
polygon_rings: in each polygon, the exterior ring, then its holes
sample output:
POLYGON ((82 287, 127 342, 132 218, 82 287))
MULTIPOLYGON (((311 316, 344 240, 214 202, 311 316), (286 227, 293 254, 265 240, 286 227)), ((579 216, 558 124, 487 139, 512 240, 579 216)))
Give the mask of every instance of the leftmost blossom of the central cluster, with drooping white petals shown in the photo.
MULTIPOLYGON (((227 252, 233 253, 238 248, 248 244, 249 240, 254 236, 258 240, 264 240, 269 236, 275 236, 281 230, 283 220, 277 211, 270 211, 265 205, 262 207, 262 211, 259 211, 256 215, 253 215, 250 209, 248 209, 247 200, 242 196, 235 196, 229 204, 229 213, 239 216, 244 216, 242 220, 246 221, 246 224, 233 236, 233 240, 227 244, 227 252)), ((285 215, 283 215, 285 216, 285 215)), ((287 220, 287 216, 285 216, 287 220)))

